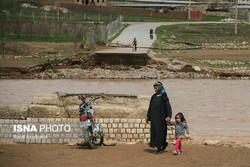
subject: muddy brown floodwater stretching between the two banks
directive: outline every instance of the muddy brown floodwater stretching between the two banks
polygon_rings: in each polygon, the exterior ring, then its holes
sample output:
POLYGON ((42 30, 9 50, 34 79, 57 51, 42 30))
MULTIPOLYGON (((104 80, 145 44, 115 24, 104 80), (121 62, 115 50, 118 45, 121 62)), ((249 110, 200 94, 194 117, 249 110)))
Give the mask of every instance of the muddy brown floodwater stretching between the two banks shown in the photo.
MULTIPOLYGON (((31 103, 35 94, 154 93, 155 80, 0 80, 0 103, 31 103)), ((250 81, 162 80, 173 108, 193 138, 250 141, 250 81)), ((145 113, 146 114, 146 113, 145 113)))

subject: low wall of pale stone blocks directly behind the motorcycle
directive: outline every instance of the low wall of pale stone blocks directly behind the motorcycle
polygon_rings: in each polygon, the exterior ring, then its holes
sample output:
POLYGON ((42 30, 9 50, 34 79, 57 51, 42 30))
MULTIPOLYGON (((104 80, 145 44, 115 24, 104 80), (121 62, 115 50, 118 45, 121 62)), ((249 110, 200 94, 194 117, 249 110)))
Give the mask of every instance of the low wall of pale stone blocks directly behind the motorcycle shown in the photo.
MULTIPOLYGON (((150 141, 150 124, 144 119, 97 118, 103 129, 104 141, 150 141)), ((78 118, 0 119, 0 142, 16 143, 80 143, 78 118)), ((174 126, 168 126, 167 141, 175 141, 174 126)))

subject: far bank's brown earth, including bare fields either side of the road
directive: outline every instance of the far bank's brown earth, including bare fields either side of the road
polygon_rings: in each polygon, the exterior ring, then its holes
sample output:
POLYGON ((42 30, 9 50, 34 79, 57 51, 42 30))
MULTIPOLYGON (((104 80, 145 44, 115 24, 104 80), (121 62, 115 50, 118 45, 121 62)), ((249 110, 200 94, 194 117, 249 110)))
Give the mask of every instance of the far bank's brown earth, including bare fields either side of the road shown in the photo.
MULTIPOLYGON (((103 49, 92 48, 91 52, 103 49)), ((106 48, 106 47, 105 47, 106 48)), ((91 49, 91 48, 89 48, 91 49)), ((222 78, 249 79, 244 68, 197 67, 180 61, 249 61, 249 50, 182 50, 161 54, 78 53, 87 50, 77 43, 9 42, 4 43, 0 58, 0 78, 16 79, 172 79, 222 78), (71 55, 70 55, 71 54, 71 55), (72 54, 75 54, 74 56, 72 54), (39 62, 40 61, 40 62, 39 62), (41 61, 46 61, 42 63, 41 61), (40 63, 40 64, 38 64, 40 63)))

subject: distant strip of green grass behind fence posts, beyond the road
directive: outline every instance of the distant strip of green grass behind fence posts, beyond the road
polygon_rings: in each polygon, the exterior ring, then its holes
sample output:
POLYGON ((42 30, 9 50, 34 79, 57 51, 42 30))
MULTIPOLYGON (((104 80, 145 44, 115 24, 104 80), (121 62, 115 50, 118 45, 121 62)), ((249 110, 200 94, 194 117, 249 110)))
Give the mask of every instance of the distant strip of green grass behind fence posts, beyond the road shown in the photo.
MULTIPOLYGON (((15 20, 23 20, 23 21, 33 21, 33 12, 34 9, 22 9, 22 17, 20 18, 20 12, 11 13, 8 18, 6 13, 0 13, 0 21, 15 21, 15 20), (24 14, 26 13, 26 14, 24 14)), ((57 17, 52 12, 46 12, 47 18, 44 17, 44 12, 41 10, 35 10, 35 21, 48 21, 48 22, 58 22, 57 17)), ((94 11, 83 11, 83 10, 75 10, 70 14, 61 14, 60 22, 104 22, 108 24, 119 17, 119 14, 114 13, 100 13, 94 11), (71 18, 71 19, 70 19, 71 18)), ((181 20, 181 19, 169 19, 165 17, 151 17, 151 16, 140 16, 140 15, 123 15, 123 20, 125 22, 180 22, 189 20, 181 20)), ((192 22, 192 21, 191 21, 192 22)))

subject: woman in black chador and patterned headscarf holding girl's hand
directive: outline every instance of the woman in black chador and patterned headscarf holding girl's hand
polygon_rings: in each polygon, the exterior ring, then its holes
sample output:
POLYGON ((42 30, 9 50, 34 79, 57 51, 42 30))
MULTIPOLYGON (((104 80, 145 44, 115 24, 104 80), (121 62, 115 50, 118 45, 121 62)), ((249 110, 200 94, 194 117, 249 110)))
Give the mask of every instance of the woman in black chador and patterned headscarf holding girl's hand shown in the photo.
POLYGON ((151 97, 149 109, 146 117, 146 123, 151 121, 150 147, 157 147, 155 154, 162 153, 166 149, 168 143, 167 122, 172 116, 172 108, 169 103, 167 93, 161 82, 154 84, 155 94, 151 97))

